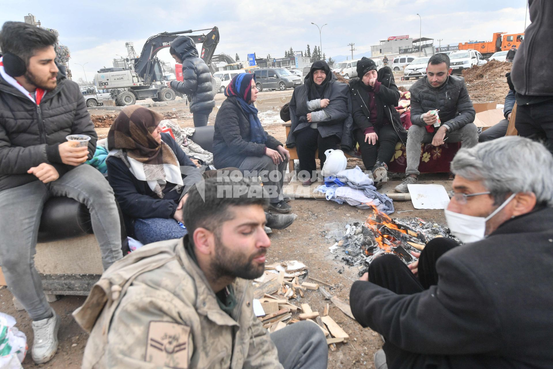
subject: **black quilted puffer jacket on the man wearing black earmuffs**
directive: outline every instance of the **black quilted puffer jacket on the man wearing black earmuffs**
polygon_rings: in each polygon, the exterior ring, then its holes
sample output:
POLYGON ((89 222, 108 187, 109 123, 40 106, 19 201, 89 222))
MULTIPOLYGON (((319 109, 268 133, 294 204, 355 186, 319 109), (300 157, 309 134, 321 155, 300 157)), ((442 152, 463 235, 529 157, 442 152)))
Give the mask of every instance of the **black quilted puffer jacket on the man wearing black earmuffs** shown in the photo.
POLYGON ((38 180, 27 170, 53 165, 60 176, 74 168, 61 162, 59 144, 70 134, 86 134, 88 159, 96 151, 96 131, 79 85, 59 68, 58 86, 39 105, 0 75, 0 191, 38 180))

